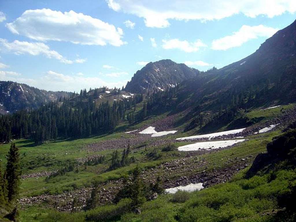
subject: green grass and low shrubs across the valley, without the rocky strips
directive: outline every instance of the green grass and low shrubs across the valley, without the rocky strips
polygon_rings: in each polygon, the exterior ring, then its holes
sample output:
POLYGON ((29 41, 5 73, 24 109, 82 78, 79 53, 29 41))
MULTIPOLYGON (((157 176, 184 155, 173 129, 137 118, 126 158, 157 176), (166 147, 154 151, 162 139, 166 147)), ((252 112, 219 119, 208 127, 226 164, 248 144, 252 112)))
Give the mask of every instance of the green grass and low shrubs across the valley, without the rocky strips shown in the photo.
MULTIPOLYGON (((248 118, 264 117, 264 121, 279 115, 282 110, 288 110, 294 105, 277 107, 270 110, 254 110, 248 112, 248 118)), ((137 107, 140 109, 140 107, 137 107)), ((145 125, 164 118, 167 113, 161 116, 153 116, 140 124, 129 126, 130 130, 139 129, 145 125)), ((91 152, 82 149, 85 144, 108 141, 110 139, 129 138, 132 135, 123 133, 121 130, 127 128, 127 123, 123 122, 115 133, 101 136, 93 136, 85 139, 67 139, 44 143, 34 146, 30 140, 16 140, 16 145, 20 148, 22 173, 30 174, 41 171, 52 171, 64 166, 67 163, 75 163, 79 157, 92 155, 104 155, 106 159, 103 163, 94 165, 77 165, 78 172, 67 172, 61 176, 50 179, 46 177, 33 177, 21 179, 20 197, 31 197, 41 194, 61 194, 65 191, 77 190, 82 187, 91 186, 93 181, 102 184, 107 181, 116 181, 120 178, 127 178, 136 165, 142 170, 148 170, 162 165, 172 160, 182 160, 186 158, 187 164, 195 164, 196 157, 205 161, 202 167, 196 167, 190 172, 175 173, 170 179, 175 180, 181 176, 196 175, 228 168, 240 161, 249 159, 249 163, 260 152, 266 152, 266 144, 272 141, 274 136, 281 135, 279 130, 262 134, 247 136, 246 141, 236 144, 231 148, 210 152, 207 154, 193 154, 180 152, 176 149, 165 152, 164 145, 154 147, 139 147, 131 149, 130 156, 133 156, 135 163, 120 167, 115 170, 108 170, 111 154, 113 150, 91 152), (156 155, 151 157, 149 152, 156 151, 156 155), (192 156, 192 158, 191 158, 192 156)), ((175 139, 186 135, 186 133, 171 134, 167 139, 175 139)), ((153 138, 154 140, 161 138, 153 138)), ((176 142, 176 147, 192 142, 176 142)), ((2 167, 6 162, 6 155, 10 144, 0 145, 0 159, 2 167)), ((118 149, 120 153, 122 149, 118 149)), ((91 215, 110 215, 110 217, 96 217, 94 221, 268 221, 272 218, 272 210, 276 209, 275 197, 277 192, 287 189, 289 181, 296 178, 295 171, 280 171, 279 178, 272 183, 268 183, 268 175, 244 179, 246 170, 237 173, 230 182, 218 184, 211 188, 194 192, 190 195, 182 194, 162 194, 156 200, 144 203, 141 208, 141 215, 134 213, 124 213, 125 206, 129 205, 129 200, 122 200, 117 205, 106 205, 97 207, 94 210, 78 213, 58 212, 53 208, 48 208, 46 201, 39 205, 22 206, 20 208, 21 221, 85 221, 85 218, 92 218, 91 215), (280 184, 280 181, 284 181, 280 184), (251 187, 250 189, 245 189, 251 187), (214 207, 213 207, 213 206, 214 207), (219 207, 215 207, 215 205, 219 207), (210 206, 210 207, 209 207, 210 206), (121 212, 121 213, 118 213, 121 212), (270 214, 264 214, 269 212, 270 214), (245 219, 244 219, 245 218, 245 219), (247 218, 247 219, 246 219, 247 218)), ((161 176, 161 175, 160 175, 161 176)))

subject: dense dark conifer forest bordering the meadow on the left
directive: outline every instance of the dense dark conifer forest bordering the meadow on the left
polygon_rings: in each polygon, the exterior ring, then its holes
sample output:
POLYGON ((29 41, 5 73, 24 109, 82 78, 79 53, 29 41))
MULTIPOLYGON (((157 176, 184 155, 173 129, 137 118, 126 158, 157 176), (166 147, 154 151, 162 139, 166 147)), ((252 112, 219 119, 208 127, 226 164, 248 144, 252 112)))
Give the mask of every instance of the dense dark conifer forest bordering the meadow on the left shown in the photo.
POLYGON ((30 138, 36 144, 57 137, 82 138, 112 131, 126 110, 143 100, 143 95, 122 98, 98 106, 85 93, 61 102, 49 102, 36 110, 20 110, 0 116, 0 140, 30 138), (73 100, 77 100, 73 102, 73 100))

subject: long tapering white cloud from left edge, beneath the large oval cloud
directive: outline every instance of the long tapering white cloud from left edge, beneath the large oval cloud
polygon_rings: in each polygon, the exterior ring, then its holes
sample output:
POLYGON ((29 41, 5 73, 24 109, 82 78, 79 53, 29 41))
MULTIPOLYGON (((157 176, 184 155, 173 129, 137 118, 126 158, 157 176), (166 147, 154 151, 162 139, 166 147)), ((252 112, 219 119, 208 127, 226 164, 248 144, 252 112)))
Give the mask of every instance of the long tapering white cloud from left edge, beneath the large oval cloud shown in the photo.
POLYGON ((18 41, 18 40, 15 40, 13 42, 8 42, 6 39, 0 38, 0 51, 12 52, 16 55, 43 54, 47 58, 54 58, 65 64, 72 64, 73 62, 82 63, 86 61, 86 59, 76 59, 75 61, 66 59, 57 51, 50 50, 49 46, 42 42, 26 42, 26 41, 18 41))

